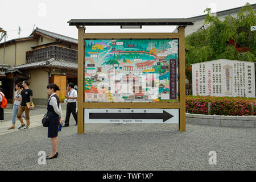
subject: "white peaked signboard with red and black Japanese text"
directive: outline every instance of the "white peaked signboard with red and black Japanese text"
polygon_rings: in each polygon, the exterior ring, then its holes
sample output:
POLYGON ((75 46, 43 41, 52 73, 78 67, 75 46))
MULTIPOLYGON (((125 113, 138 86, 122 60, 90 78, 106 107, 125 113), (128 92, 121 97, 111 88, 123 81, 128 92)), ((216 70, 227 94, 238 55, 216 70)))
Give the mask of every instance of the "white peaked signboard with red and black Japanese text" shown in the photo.
POLYGON ((254 63, 214 60, 192 64, 193 96, 255 97, 254 63))

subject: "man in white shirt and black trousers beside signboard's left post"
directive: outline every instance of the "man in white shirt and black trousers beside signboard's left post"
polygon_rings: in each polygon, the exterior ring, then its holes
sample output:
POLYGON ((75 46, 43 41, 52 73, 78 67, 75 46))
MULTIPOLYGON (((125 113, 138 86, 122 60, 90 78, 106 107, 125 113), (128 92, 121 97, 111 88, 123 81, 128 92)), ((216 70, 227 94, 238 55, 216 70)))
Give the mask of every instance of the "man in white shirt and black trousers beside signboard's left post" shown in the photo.
POLYGON ((67 111, 66 111, 66 118, 65 118, 65 125, 63 127, 67 127, 69 126, 69 118, 70 115, 72 113, 76 124, 75 126, 77 126, 77 114, 76 114, 76 100, 77 100, 77 92, 74 89, 74 84, 73 83, 69 83, 68 84, 68 96, 66 97, 68 100, 68 104, 67 104, 67 111))

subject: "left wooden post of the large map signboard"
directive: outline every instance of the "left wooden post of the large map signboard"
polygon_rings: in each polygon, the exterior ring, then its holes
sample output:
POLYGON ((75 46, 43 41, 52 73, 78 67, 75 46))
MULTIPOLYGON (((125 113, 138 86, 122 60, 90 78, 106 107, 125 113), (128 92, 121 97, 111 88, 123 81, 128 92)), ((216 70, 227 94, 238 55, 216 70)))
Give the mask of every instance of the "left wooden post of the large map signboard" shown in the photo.
POLYGON ((77 55, 77 134, 84 133, 84 27, 77 27, 79 32, 77 55))

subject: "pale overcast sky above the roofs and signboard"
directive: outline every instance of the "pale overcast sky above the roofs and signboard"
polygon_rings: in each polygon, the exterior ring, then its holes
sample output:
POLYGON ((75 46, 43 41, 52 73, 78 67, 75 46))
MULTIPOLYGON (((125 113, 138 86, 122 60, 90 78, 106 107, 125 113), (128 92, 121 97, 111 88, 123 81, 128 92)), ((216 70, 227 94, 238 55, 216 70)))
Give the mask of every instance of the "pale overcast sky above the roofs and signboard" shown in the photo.
MULTIPOLYGON (((9 39, 31 34, 33 27, 77 39, 77 28, 68 25, 70 19, 103 18, 191 18, 203 15, 207 7, 213 12, 244 6, 250 0, 0 0, 0 27, 9 39)), ((86 32, 172 32, 175 26, 144 26, 141 30, 121 30, 120 27, 86 27, 86 32)), ((3 40, 2 40, 3 41, 3 40)))

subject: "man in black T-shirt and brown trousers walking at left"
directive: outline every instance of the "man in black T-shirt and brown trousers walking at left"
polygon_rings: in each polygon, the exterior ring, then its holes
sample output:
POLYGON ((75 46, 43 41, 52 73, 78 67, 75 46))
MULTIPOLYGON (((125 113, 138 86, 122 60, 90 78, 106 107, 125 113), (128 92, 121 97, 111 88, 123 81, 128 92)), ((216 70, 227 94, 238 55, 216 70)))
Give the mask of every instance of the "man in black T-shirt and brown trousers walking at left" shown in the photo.
POLYGON ((27 125, 24 127, 24 130, 27 130, 28 127, 30 126, 30 109, 32 108, 33 92, 30 88, 28 88, 29 85, 30 84, 26 80, 22 82, 22 86, 24 89, 20 93, 20 95, 22 96, 22 101, 19 105, 18 114, 17 114, 17 118, 19 119, 21 126, 18 129, 22 129, 22 127, 25 126, 23 119, 22 119, 22 113, 24 111, 25 111, 25 115, 27 118, 27 125), (29 106, 27 106, 28 102, 29 102, 29 106))

